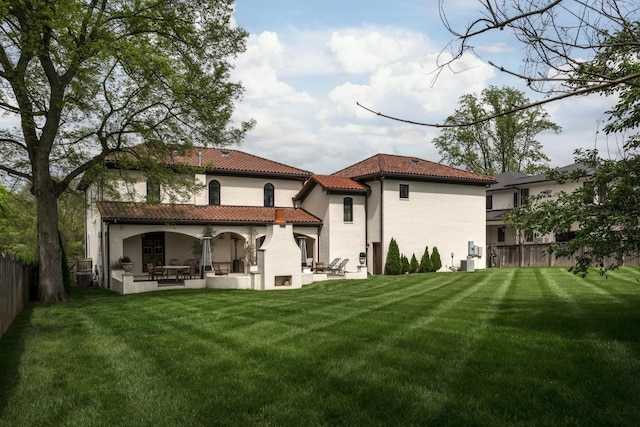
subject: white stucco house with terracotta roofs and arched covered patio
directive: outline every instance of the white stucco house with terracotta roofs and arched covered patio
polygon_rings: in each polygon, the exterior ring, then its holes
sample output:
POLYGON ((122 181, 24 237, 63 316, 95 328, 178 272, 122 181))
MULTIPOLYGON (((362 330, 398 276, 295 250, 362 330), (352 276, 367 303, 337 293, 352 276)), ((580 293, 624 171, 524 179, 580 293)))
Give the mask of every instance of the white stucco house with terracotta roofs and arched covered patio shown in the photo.
MULTIPOLYGON (((326 279, 331 272, 322 265, 335 258, 348 260, 340 277, 381 274, 391 238, 408 257, 437 246, 449 266, 467 257, 469 241, 486 244, 483 206, 491 177, 386 154, 331 175, 226 148, 196 148, 177 159, 200 167, 193 179, 202 189, 189 197, 176 200, 143 175, 134 184, 134 201, 107 200, 96 183, 84 186, 87 257, 101 286, 123 294, 172 287, 295 289, 326 279), (159 203, 146 202, 151 194, 159 203), (202 264, 207 228, 213 232, 211 271, 186 274, 181 267, 202 264), (123 256, 131 259, 131 272, 116 267, 123 256), (153 266, 161 267, 163 280, 149 271, 153 266)), ((110 167, 117 181, 118 165, 110 167)))

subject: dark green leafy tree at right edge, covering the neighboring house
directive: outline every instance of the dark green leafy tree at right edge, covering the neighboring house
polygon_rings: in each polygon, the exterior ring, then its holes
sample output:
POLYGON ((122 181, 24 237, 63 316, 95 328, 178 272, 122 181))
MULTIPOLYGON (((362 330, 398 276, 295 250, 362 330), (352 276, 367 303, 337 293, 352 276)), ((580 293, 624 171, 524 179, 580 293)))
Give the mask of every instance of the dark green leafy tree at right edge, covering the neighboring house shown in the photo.
POLYGON ((593 60, 576 64, 568 83, 576 91, 617 95, 603 130, 626 132, 618 157, 604 158, 597 150, 576 151, 582 168, 549 174, 559 183, 579 182, 576 190, 543 193, 506 218, 514 227, 541 234, 574 231, 575 238, 553 244, 550 251, 559 257, 575 256, 571 270, 583 276, 590 267, 604 273, 640 253, 640 89, 637 84, 621 84, 640 79, 640 8, 632 12, 629 16, 635 19, 612 19, 615 31, 597 33, 591 46, 596 52, 593 60))

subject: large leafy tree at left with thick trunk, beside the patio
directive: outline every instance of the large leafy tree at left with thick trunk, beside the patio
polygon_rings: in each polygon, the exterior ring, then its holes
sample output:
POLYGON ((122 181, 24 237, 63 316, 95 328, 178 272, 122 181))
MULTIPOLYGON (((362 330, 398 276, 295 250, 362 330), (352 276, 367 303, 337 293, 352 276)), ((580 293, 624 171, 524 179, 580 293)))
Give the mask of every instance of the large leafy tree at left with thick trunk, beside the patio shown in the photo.
MULTIPOLYGON (((64 301, 58 202, 108 157, 150 180, 184 184, 173 156, 239 142, 231 128, 242 86, 230 60, 247 33, 232 0, 12 0, 0 5, 0 171, 35 196, 40 301, 64 301), (144 143, 144 149, 133 149, 144 143), (119 153, 130 153, 119 157, 119 153), (55 171, 58 176, 52 175, 55 171), (172 176, 171 176, 172 175, 172 176)), ((186 184, 184 184, 186 185, 186 184)))

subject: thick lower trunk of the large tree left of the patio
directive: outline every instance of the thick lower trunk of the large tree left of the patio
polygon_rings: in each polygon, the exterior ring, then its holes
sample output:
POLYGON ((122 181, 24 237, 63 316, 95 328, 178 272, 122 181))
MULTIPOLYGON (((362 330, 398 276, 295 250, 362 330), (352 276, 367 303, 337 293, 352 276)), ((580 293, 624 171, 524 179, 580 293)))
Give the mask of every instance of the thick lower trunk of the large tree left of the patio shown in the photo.
POLYGON ((62 281, 62 250, 58 231, 58 194, 48 168, 34 168, 34 194, 38 215, 40 302, 68 301, 62 281))

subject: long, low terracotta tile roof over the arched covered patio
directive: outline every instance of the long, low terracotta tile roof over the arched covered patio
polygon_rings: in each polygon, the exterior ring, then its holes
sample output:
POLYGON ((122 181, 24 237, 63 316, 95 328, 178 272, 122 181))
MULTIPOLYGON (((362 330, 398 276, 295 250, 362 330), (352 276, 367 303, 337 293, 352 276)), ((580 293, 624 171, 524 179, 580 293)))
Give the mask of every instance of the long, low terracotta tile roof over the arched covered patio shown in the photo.
POLYGON ((322 221, 304 209, 265 208, 261 206, 195 206, 147 204, 131 202, 98 202, 104 221, 137 223, 257 223, 274 222, 276 209, 284 211, 284 219, 292 224, 321 224, 322 221))

